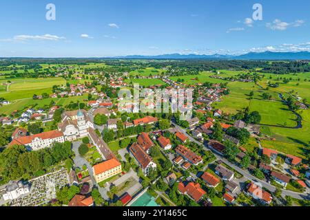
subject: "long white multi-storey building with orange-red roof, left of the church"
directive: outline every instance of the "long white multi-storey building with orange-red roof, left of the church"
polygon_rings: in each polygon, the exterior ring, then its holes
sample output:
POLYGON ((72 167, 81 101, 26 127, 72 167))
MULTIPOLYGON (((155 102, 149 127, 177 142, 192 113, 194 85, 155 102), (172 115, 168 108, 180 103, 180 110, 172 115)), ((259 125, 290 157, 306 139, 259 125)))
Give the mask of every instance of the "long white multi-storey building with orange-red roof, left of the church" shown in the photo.
POLYGON ((65 137, 61 131, 47 131, 43 133, 38 133, 36 135, 30 135, 25 137, 18 137, 9 146, 24 145, 32 151, 38 151, 43 148, 52 146, 55 142, 63 143, 65 142, 65 137))

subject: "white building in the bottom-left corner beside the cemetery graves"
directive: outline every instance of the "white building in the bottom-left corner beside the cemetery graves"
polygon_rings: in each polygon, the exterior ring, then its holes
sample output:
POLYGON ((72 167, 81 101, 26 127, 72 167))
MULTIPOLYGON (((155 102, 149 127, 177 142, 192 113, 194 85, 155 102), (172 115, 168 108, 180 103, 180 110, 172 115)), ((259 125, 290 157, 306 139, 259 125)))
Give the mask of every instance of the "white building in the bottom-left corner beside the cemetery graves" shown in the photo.
POLYGON ((24 184, 22 181, 10 181, 3 193, 3 200, 13 200, 30 192, 30 185, 24 184))

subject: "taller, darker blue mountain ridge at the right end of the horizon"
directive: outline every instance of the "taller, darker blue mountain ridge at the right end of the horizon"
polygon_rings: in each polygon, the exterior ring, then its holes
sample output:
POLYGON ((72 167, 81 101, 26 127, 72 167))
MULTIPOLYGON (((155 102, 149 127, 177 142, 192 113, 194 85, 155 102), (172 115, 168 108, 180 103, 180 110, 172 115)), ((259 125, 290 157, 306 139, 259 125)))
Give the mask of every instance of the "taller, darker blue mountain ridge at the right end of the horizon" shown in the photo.
POLYGON ((234 58, 240 60, 310 60, 310 52, 251 52, 234 58))

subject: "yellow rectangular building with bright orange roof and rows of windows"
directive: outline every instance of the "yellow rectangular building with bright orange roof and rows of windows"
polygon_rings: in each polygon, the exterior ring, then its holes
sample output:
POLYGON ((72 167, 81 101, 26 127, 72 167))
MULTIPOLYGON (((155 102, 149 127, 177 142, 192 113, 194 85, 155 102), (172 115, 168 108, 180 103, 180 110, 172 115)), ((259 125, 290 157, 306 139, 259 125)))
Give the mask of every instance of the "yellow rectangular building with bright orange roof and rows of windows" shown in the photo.
POLYGON ((108 159, 105 162, 96 164, 92 167, 96 182, 99 183, 105 179, 122 173, 122 165, 117 159, 108 159))

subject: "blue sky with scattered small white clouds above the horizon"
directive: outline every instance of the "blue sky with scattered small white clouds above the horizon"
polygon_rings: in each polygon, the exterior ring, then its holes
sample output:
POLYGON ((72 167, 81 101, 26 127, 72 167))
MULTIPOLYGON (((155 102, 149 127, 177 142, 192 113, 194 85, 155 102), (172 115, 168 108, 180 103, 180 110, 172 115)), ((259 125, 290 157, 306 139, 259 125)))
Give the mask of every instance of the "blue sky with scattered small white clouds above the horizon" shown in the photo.
POLYGON ((307 0, 1 0, 0 57, 310 51, 309 8, 307 0), (55 20, 46 19, 49 3, 55 20))

